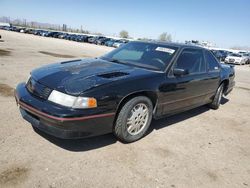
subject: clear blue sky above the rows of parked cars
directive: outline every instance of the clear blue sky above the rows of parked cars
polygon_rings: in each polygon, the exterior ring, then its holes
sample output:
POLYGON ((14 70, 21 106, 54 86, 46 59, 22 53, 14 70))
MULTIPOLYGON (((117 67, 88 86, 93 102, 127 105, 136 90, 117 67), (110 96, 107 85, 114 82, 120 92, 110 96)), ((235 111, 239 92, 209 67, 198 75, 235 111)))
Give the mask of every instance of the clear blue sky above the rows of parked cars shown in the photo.
POLYGON ((0 0, 0 16, 134 38, 250 47, 250 0, 0 0))

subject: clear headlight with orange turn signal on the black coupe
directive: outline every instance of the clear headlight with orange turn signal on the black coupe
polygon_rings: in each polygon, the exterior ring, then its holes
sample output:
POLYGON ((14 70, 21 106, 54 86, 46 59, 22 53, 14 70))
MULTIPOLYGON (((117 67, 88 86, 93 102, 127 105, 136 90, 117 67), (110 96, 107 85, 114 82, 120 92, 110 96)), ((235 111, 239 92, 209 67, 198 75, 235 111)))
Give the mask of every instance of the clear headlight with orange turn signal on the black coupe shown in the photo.
POLYGON ((53 90, 48 98, 49 101, 60 104, 62 106, 72 108, 95 108, 97 102, 95 98, 75 97, 65 93, 53 90))

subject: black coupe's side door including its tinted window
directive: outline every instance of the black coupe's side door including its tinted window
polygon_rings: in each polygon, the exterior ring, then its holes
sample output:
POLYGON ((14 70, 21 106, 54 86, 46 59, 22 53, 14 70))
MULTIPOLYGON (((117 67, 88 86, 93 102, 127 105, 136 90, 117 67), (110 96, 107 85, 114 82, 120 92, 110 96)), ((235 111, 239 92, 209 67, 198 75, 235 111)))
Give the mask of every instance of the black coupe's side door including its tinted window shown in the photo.
POLYGON ((174 76, 172 71, 166 78, 165 90, 161 90, 162 115, 183 111, 204 103, 208 93, 208 72, 202 49, 185 48, 173 64, 173 69, 184 69, 188 73, 174 76))

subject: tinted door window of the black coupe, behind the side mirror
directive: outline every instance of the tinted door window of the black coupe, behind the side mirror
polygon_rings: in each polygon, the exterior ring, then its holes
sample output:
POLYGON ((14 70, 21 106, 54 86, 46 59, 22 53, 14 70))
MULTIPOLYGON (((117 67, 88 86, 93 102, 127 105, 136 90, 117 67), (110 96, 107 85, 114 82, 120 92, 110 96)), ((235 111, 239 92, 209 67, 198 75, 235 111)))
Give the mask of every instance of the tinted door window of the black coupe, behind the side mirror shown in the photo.
POLYGON ((187 70, 189 74, 206 72, 206 63, 200 49, 184 49, 178 57, 174 68, 187 70))

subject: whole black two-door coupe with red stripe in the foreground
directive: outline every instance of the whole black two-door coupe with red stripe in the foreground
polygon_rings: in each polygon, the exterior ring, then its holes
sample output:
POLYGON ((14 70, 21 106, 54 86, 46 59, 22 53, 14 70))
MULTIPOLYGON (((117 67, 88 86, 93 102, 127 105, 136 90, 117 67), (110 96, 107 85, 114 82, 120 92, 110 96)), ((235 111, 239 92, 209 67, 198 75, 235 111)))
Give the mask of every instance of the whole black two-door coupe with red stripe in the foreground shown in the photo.
POLYGON ((113 132, 133 142, 152 118, 205 104, 217 109, 234 75, 232 66, 200 47, 130 42, 99 58, 35 69, 15 98, 25 120, 56 137, 113 132))

